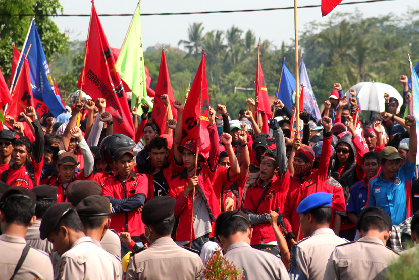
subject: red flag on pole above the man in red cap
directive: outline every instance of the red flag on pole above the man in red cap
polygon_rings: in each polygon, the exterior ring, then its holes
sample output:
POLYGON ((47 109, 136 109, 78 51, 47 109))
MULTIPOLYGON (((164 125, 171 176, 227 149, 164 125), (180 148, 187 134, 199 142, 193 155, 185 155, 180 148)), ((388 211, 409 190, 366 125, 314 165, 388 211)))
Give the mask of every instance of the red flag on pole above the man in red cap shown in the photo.
POLYGON ((209 96, 205 72, 205 54, 202 53, 202 61, 199 64, 188 99, 183 108, 182 145, 188 139, 196 139, 197 152, 205 159, 209 156, 209 133, 206 128, 209 125, 208 107, 209 96), (198 117, 200 118, 199 130, 198 117))

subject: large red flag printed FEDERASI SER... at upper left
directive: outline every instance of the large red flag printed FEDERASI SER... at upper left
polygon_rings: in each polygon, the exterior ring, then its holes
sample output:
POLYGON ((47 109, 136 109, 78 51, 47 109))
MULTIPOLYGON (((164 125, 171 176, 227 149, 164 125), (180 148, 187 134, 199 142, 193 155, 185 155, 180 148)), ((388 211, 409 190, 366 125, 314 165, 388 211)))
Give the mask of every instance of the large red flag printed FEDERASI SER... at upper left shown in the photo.
POLYGON ((106 111, 114 118, 114 133, 135 137, 134 124, 121 78, 115 68, 115 57, 109 47, 94 3, 86 42, 85 66, 77 87, 93 100, 106 99, 106 111))

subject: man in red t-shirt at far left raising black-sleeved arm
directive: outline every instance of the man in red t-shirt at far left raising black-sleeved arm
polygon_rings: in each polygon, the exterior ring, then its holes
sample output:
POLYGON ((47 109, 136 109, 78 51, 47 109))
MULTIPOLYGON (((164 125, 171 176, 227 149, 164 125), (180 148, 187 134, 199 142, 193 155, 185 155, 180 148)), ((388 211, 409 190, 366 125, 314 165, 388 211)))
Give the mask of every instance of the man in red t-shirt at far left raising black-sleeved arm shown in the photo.
POLYGON ((14 163, 8 170, 3 171, 1 180, 12 187, 19 186, 32 189, 34 186, 39 185, 41 178, 45 139, 33 107, 26 107, 25 113, 19 115, 19 117, 21 116, 28 123, 33 119, 31 124, 35 132, 34 147, 26 137, 15 140, 12 152, 14 163), (31 159, 32 154, 33 158, 31 159), (30 164, 28 164, 29 160, 30 164))

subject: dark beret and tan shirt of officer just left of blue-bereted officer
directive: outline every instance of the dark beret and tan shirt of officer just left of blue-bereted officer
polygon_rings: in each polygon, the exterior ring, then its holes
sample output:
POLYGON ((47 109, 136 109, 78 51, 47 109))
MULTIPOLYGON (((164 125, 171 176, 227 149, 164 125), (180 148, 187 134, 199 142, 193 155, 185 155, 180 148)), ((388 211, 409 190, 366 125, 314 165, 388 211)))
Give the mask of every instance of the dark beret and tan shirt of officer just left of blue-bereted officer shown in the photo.
MULTIPOLYGON (((216 221, 214 231, 216 236, 231 217, 242 217, 250 227, 249 219, 242 211, 226 211, 221 213, 216 221)), ((226 248, 225 248, 226 249, 226 248)), ((289 280, 287 269, 281 259, 265 251, 250 247, 246 242, 231 244, 224 255, 225 259, 232 262, 238 270, 243 270, 246 280, 253 279, 281 279, 289 280)))

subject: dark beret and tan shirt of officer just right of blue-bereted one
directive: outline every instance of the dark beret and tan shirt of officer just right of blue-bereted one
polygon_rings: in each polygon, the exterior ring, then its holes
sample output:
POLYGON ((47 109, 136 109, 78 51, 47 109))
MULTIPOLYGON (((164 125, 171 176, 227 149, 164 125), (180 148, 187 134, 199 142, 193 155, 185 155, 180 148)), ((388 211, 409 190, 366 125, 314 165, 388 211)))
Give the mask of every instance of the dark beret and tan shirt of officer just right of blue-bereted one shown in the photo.
MULTIPOLYGON (((381 209, 369 206, 358 217, 358 229, 360 221, 368 216, 384 218, 391 228, 390 217, 381 209)), ((387 266, 396 262, 398 257, 399 254, 384 246, 380 239, 365 236, 358 241, 336 246, 326 266, 324 280, 384 279, 387 266)))

